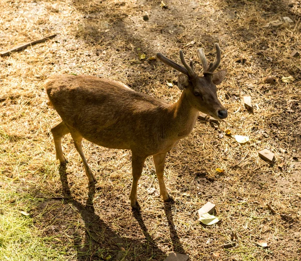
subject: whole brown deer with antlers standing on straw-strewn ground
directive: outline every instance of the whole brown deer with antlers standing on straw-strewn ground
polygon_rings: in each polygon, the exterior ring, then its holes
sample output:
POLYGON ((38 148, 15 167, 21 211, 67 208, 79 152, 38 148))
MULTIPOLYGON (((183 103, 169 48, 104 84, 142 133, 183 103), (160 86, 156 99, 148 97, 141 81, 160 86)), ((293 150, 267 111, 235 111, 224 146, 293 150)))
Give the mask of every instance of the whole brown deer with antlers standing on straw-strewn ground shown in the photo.
POLYGON ((216 85, 225 78, 227 70, 214 71, 221 61, 221 50, 215 44, 216 56, 208 64, 204 49, 197 53, 203 67, 203 76, 188 65, 183 51, 183 65, 168 59, 162 53, 157 58, 180 72, 178 88, 182 91, 174 104, 136 92, 127 85, 88 75, 54 75, 45 82, 50 105, 62 119, 51 129, 56 158, 65 165, 61 139, 70 133, 79 153, 90 184, 96 178, 82 150, 82 139, 106 148, 131 150, 132 186, 130 205, 140 210, 137 184, 144 161, 153 156, 159 181, 160 195, 165 202, 173 201, 164 183, 164 165, 167 153, 193 130, 199 112, 221 120, 228 116, 217 97, 216 85))

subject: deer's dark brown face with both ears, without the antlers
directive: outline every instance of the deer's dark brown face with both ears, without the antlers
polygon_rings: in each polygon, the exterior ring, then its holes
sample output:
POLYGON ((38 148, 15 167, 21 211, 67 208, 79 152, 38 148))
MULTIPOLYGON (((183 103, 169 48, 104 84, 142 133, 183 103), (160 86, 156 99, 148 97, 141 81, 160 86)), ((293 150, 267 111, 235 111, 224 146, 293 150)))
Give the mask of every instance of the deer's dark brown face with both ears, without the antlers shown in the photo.
POLYGON ((190 105, 199 111, 209 114, 216 119, 225 119, 228 112, 217 98, 216 85, 220 84, 226 75, 222 70, 212 75, 204 77, 190 77, 180 74, 178 86, 186 92, 190 105))

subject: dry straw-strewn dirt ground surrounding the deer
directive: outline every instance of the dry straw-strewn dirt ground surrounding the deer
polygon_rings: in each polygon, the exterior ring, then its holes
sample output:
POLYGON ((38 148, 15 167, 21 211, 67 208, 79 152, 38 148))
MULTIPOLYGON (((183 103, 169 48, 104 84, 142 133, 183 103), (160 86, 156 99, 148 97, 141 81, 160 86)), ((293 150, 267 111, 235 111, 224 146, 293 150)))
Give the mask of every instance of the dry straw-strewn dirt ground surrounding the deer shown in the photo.
POLYGON ((165 3, 167 8, 147 0, 0 1, 2 51, 58 34, 0 58, 0 185, 16 192, 8 207, 24 194, 35 198, 30 217, 41 237, 52 238, 49 248, 67 248, 65 260, 161 261, 172 251, 190 260, 300 260, 301 63, 290 56, 293 49, 301 51, 300 2, 165 3), (277 19, 283 24, 264 27, 277 19), (96 75, 175 102, 180 91, 167 81, 177 80, 177 72, 147 58, 160 51, 179 62, 182 49, 201 73, 197 49, 204 48, 213 59, 216 42, 222 49, 220 68, 228 69, 218 96, 229 117, 217 129, 198 121, 169 153, 166 184, 174 204, 159 197, 149 158, 138 187, 142 210, 131 211, 130 151, 84 142, 98 179, 96 190, 88 187, 68 135, 62 144, 69 163, 59 167, 50 129, 60 118, 46 105, 43 82, 48 76, 96 75), (139 60, 139 54, 146 59, 139 60), (266 75, 277 82, 264 84, 266 75), (290 75, 294 82, 281 81, 290 75), (241 103, 245 95, 252 97, 253 113, 241 103), (250 141, 239 144, 226 129, 250 141), (275 154, 274 164, 258 157, 264 148, 275 154), (68 194, 72 198, 67 200, 68 194), (221 219, 212 226, 202 225, 197 216, 208 200, 221 219), (224 249, 232 232, 238 236, 236 246, 224 249), (258 240, 268 247, 258 246, 258 240))

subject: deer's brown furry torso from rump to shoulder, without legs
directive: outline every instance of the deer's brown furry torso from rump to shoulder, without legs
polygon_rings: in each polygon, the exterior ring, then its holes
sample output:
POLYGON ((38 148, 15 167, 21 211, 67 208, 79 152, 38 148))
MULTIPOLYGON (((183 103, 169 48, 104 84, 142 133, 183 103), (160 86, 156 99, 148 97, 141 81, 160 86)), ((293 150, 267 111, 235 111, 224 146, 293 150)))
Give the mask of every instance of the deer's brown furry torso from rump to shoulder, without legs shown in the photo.
POLYGON ((60 75, 51 77, 45 87, 63 121, 95 144, 120 149, 146 146, 150 151, 164 138, 162 117, 169 106, 122 83, 60 75))

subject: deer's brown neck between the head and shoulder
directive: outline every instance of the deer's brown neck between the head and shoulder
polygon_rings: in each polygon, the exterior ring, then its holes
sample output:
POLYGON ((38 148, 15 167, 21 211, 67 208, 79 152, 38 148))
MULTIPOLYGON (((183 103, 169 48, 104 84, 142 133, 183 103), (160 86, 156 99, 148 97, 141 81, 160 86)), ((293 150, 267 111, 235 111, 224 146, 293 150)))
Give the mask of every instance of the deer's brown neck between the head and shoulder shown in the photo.
POLYGON ((199 111, 188 101, 185 90, 178 102, 171 105, 170 130, 175 138, 184 138, 189 135, 196 124, 199 111))

